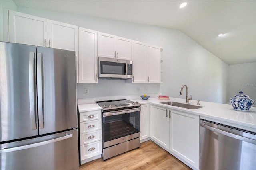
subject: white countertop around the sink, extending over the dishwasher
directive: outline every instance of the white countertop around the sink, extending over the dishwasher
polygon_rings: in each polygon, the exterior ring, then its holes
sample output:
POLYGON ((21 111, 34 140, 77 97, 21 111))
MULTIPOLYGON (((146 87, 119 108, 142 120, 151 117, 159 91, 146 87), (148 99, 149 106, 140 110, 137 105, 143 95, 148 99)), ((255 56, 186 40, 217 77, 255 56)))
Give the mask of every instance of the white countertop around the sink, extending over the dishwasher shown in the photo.
MULTIPOLYGON (((185 99, 170 98, 170 100, 158 100, 158 98, 149 98, 148 100, 136 99, 140 104, 154 104, 178 111, 185 111, 194 115, 199 115, 202 119, 207 119, 217 123, 224 123, 233 127, 245 129, 256 133, 256 107, 252 107, 250 111, 236 111, 230 104, 220 104, 213 102, 200 101, 199 109, 186 109, 182 107, 161 104, 160 102, 173 101, 186 103, 185 99)), ((190 100, 189 104, 196 105, 197 100, 190 100)))

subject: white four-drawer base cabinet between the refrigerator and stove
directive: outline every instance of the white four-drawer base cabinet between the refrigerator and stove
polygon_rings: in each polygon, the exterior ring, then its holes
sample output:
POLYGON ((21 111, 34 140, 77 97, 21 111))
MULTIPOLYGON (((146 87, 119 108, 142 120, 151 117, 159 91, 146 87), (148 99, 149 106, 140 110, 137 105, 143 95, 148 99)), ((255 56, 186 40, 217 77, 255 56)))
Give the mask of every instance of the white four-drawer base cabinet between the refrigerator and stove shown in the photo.
POLYGON ((79 113, 80 164, 85 164, 102 154, 101 110, 79 113))

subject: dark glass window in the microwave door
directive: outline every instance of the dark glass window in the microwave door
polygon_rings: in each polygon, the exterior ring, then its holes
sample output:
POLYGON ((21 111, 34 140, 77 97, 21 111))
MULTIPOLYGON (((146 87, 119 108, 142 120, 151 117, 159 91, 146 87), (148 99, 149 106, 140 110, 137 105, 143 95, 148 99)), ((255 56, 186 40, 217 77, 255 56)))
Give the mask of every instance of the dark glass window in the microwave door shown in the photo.
POLYGON ((101 74, 120 74, 125 75, 125 63, 110 61, 100 61, 101 74))

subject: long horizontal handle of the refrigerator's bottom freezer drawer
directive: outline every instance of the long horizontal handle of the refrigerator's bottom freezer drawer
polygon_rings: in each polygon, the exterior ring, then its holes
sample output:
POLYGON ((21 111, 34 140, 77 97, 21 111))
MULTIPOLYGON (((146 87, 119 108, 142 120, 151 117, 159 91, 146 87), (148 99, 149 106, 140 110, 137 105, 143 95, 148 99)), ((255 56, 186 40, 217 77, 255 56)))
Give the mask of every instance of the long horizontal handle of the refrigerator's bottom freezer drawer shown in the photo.
POLYGON ((50 140, 47 140, 47 141, 42 141, 42 142, 38 142, 38 143, 32 143, 32 144, 29 144, 29 145, 22 145, 22 146, 13 147, 13 148, 1 148, 0 149, 0 154, 7 153, 7 152, 14 152, 14 151, 17 151, 17 150, 33 148, 33 147, 38 147, 38 146, 46 145, 46 144, 49 144, 49 143, 55 143, 55 142, 58 142, 58 141, 62 141, 64 139, 71 138, 71 137, 73 137, 73 133, 71 133, 69 135, 66 134, 66 135, 64 135, 62 137, 58 137, 58 138, 55 138, 55 139, 50 139, 50 140))

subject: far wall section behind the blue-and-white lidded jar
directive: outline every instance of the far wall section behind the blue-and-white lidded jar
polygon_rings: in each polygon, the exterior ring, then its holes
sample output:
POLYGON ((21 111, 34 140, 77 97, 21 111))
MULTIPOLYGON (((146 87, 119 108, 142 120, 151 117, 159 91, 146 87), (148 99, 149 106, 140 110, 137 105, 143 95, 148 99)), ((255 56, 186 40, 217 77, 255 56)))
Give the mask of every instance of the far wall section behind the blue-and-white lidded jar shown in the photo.
POLYGON ((228 99, 240 91, 256 102, 256 62, 228 67, 228 99))

